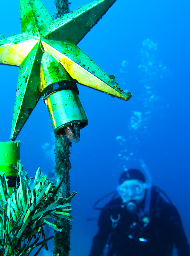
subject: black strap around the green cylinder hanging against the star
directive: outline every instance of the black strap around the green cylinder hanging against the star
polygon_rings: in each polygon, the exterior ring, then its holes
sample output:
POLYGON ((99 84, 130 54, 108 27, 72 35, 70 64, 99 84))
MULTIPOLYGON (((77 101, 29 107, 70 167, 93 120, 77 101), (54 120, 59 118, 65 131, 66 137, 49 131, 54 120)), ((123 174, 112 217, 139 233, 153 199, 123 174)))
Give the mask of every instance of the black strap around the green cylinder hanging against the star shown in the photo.
POLYGON ((45 100, 50 94, 53 92, 58 92, 62 90, 72 90, 78 92, 77 84, 73 81, 64 80, 64 81, 57 81, 53 84, 48 85, 41 93, 43 100, 45 100))

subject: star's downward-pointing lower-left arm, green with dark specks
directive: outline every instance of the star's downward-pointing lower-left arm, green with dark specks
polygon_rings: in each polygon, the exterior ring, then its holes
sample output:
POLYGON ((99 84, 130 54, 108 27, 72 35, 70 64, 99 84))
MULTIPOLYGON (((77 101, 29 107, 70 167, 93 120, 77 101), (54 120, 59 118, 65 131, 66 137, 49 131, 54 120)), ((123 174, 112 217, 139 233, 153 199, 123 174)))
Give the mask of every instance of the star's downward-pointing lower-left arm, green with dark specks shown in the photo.
MULTIPOLYGON (((18 84, 15 97, 11 134, 18 134, 28 116, 40 99, 40 60, 43 52, 36 51, 40 42, 34 46, 19 67, 18 84)), ((15 137, 13 137, 15 139, 15 137)))

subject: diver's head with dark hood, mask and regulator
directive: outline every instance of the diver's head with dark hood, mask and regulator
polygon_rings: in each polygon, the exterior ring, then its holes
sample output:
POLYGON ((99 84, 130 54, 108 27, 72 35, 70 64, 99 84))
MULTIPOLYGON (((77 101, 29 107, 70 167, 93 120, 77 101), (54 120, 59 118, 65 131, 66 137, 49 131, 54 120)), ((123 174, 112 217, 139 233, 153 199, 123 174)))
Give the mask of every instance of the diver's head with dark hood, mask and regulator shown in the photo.
POLYGON ((119 182, 120 185, 117 187, 117 191, 123 203, 130 206, 130 212, 135 212, 135 205, 143 201, 147 188, 143 173, 137 169, 129 169, 121 174, 119 182))

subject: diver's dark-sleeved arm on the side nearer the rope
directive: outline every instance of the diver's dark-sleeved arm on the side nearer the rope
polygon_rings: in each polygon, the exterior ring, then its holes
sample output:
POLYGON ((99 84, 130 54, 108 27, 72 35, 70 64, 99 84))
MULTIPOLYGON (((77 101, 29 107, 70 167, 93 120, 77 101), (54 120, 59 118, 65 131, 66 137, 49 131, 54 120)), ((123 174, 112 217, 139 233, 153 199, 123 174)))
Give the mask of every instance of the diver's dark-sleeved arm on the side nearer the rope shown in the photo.
POLYGON ((107 242, 108 235, 111 231, 110 226, 110 215, 107 210, 103 209, 100 213, 98 226, 99 230, 96 236, 94 236, 92 241, 92 247, 89 256, 101 256, 104 247, 107 242))

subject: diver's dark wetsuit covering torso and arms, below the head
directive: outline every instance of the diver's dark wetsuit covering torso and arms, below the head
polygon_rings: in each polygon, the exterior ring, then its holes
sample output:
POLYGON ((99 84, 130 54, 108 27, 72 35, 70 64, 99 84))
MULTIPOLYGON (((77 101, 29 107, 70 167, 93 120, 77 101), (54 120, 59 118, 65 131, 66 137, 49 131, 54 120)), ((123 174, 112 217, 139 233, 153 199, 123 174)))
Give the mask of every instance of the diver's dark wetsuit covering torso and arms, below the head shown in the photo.
POLYGON ((101 211, 99 231, 93 239, 89 256, 172 256, 174 245, 179 256, 190 256, 177 209, 160 197, 155 189, 151 192, 150 221, 146 227, 136 213, 130 213, 126 206, 122 206, 119 197, 111 200, 101 211), (112 228, 110 216, 112 220, 120 216, 115 228, 112 228), (105 249, 106 244, 109 244, 109 249, 108 246, 105 249))

